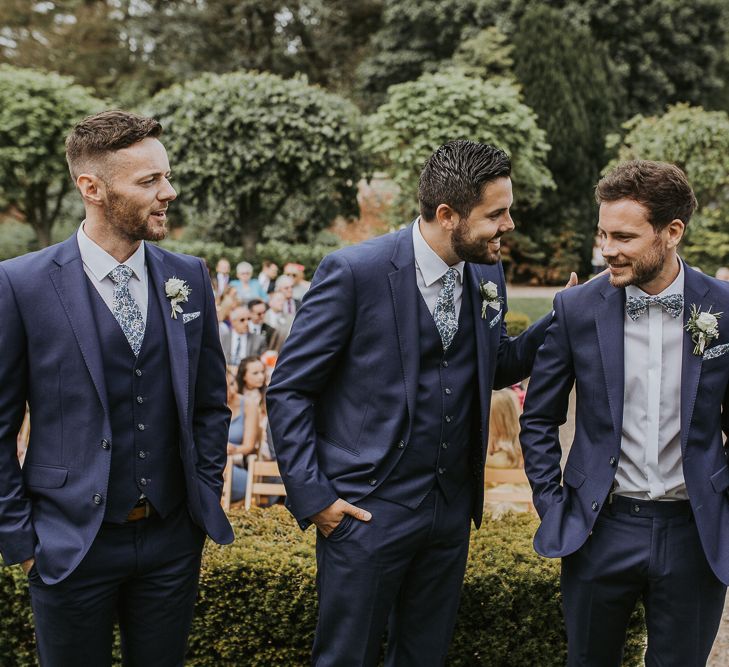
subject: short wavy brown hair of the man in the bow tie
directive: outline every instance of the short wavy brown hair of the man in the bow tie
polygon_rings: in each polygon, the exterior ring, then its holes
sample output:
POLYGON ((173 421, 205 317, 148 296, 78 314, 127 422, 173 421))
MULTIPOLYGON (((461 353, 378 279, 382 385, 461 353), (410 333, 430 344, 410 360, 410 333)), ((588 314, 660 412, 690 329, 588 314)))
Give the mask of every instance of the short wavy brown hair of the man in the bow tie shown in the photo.
POLYGON ((698 203, 686 174, 675 164, 652 160, 623 162, 603 176, 595 187, 598 204, 630 199, 648 210, 656 232, 672 220, 688 225, 698 203))

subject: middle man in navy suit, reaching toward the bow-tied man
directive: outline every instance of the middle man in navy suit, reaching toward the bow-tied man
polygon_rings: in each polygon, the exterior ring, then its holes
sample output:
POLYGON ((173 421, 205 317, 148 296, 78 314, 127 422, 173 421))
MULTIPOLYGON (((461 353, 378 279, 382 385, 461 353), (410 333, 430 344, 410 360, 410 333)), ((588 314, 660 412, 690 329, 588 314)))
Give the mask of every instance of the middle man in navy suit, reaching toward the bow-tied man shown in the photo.
POLYGON ((332 253, 268 390, 273 442, 302 528, 317 532, 313 661, 442 665, 470 522, 480 525, 491 390, 529 375, 546 321, 506 334, 501 236, 508 156, 441 146, 421 215, 332 253))

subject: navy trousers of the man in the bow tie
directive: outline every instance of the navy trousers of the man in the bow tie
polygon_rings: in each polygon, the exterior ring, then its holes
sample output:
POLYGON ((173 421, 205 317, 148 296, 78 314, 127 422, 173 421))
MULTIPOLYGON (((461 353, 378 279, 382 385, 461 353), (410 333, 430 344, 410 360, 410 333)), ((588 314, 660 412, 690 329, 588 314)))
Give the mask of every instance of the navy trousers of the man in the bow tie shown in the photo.
POLYGON ((647 667, 701 667, 716 637, 726 586, 706 561, 688 501, 615 496, 587 542, 562 559, 569 667, 619 667, 638 600, 647 667))

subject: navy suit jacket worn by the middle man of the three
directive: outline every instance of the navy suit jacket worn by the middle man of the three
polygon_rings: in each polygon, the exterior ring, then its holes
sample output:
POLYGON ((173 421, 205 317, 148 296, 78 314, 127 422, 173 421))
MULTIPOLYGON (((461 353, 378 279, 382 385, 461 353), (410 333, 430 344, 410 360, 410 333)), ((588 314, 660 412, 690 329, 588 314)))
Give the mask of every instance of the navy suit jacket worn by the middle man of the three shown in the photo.
MULTIPOLYGON (((529 375, 547 320, 509 338, 501 264, 466 264, 465 280, 470 303, 462 307, 476 321, 482 492, 491 390, 529 375), (485 319, 481 280, 504 297, 501 311, 489 307, 485 319)), ((412 226, 338 250, 317 269, 267 392, 287 505, 302 528, 338 497, 357 502, 372 493, 402 456, 398 443, 410 438, 418 386, 421 298, 412 226)))

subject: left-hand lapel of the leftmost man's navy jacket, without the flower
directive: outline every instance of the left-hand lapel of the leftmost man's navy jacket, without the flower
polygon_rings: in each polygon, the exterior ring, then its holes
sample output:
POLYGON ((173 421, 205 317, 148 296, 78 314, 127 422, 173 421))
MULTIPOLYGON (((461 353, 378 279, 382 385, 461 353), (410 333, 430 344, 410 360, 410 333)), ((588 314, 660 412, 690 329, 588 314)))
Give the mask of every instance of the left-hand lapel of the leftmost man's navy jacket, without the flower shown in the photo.
POLYGON ((66 311, 71 330, 81 349, 81 356, 88 368, 99 401, 108 416, 109 402, 106 395, 101 347, 96 320, 89 301, 89 285, 75 234, 60 244, 58 256, 54 261, 58 268, 51 269, 51 282, 66 311))

